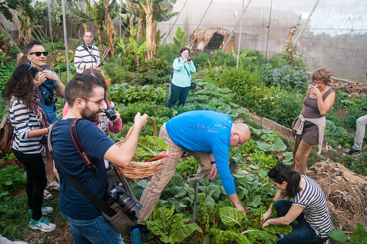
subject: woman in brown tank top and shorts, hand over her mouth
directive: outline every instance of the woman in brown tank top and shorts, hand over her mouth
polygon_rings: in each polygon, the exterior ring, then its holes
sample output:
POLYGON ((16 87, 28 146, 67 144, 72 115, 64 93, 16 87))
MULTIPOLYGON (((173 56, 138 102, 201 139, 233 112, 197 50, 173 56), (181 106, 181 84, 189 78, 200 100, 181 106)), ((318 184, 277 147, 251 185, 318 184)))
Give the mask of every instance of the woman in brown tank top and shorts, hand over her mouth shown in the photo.
MULTIPOLYGON (((303 100, 301 115, 305 119, 319 119, 333 106, 335 92, 328 86, 331 80, 330 72, 326 68, 315 70, 311 80, 312 84, 308 86, 307 95, 303 100)), ((305 175, 308 155, 313 145, 319 143, 319 127, 306 120, 302 134, 294 134, 296 136, 293 147, 294 170, 305 175)))

